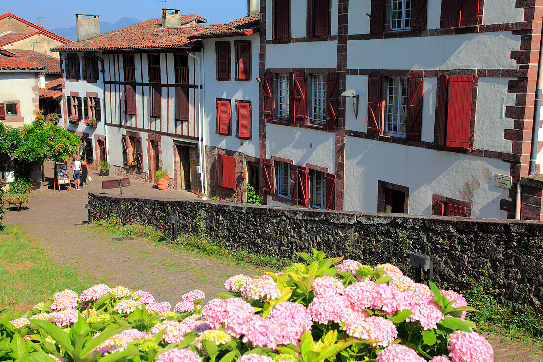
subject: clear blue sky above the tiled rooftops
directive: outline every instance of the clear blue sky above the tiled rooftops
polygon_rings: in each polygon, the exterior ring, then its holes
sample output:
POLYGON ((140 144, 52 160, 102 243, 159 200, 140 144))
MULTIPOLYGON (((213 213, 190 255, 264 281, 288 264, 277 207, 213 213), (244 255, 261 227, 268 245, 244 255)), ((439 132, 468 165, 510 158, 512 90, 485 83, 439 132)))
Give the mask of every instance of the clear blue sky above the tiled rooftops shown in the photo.
MULTIPOLYGON (((37 23, 43 16, 46 29, 75 25, 75 14, 100 15, 100 21, 114 23, 123 16, 148 20, 161 17, 164 2, 155 0, 1 0, 2 13, 12 13, 37 23)), ((247 16, 246 0, 176 0, 168 2, 169 9, 181 9, 182 14, 198 14, 207 23, 220 23, 247 16)))

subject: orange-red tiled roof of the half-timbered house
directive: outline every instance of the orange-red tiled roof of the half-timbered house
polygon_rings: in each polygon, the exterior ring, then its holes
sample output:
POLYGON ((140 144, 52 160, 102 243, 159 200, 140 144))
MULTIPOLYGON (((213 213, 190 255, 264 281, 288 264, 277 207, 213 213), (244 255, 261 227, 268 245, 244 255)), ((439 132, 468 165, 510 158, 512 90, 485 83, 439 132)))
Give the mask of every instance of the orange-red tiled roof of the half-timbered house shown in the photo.
MULTIPOLYGON (((182 15, 181 21, 190 20, 195 16, 182 15)), ((204 27, 206 26, 162 28, 162 19, 153 19, 112 30, 96 38, 62 45, 51 50, 66 52, 187 47, 191 42, 187 36, 200 31, 200 28, 204 27)))

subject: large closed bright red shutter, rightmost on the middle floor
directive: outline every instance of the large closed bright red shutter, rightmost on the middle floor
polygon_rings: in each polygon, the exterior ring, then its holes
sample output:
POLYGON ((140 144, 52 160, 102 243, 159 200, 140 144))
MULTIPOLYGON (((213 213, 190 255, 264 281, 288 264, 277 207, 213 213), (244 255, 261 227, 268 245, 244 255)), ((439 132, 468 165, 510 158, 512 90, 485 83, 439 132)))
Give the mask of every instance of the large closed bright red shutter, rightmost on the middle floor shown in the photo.
POLYGON ((446 146, 470 147, 473 76, 449 76, 446 146))

